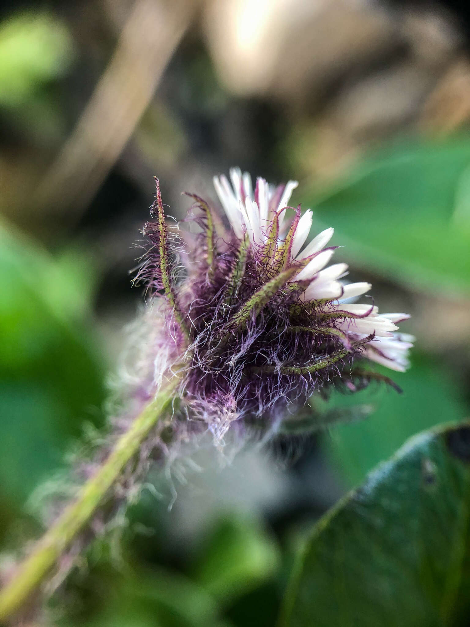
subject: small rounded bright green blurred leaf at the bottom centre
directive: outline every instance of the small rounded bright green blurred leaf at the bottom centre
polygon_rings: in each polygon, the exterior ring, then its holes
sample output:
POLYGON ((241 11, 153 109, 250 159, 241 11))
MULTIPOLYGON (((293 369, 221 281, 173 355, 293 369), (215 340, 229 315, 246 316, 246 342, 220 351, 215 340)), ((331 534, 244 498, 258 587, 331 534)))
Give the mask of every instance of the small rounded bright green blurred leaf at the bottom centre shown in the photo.
POLYGON ((220 520, 204 544, 194 579, 223 603, 273 576, 279 564, 274 540, 253 519, 220 520))

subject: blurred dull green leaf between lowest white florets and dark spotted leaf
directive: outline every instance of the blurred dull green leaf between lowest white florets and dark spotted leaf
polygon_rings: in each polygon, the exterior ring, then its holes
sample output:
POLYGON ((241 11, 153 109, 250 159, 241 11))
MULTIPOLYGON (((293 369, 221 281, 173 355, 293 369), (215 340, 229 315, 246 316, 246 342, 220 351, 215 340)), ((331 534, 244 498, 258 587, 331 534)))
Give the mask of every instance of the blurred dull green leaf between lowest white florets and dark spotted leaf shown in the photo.
MULTIPOLYGON (((390 375, 385 368, 377 370, 390 375)), ((415 352, 411 369, 404 374, 394 372, 392 378, 402 388, 402 394, 372 383, 352 396, 333 395, 326 403, 332 412, 363 403, 375 406, 375 412, 367 418, 336 424, 324 437, 328 453, 348 487, 362 482, 373 466, 389 458, 418 431, 441 423, 444 416, 468 414, 461 390, 449 373, 429 357, 415 352)))

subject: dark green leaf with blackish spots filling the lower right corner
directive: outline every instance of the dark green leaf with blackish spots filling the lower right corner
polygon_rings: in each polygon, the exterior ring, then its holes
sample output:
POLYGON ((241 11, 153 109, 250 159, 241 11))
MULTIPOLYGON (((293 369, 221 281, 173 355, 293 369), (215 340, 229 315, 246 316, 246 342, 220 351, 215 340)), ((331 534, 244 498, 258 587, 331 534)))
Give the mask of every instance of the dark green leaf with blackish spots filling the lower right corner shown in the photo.
POLYGON ((470 423, 415 436, 315 525, 280 624, 467 625, 469 512, 470 423))

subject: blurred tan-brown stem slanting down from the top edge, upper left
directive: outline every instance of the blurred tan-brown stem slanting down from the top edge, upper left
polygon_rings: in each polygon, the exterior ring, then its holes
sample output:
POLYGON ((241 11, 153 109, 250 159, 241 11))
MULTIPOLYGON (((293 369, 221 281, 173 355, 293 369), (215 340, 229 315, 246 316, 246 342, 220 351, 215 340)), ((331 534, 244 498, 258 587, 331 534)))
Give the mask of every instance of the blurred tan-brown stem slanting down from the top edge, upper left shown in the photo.
POLYGON ((48 213, 73 222, 97 192, 150 103, 197 3, 135 0, 116 50, 75 129, 39 184, 48 213))

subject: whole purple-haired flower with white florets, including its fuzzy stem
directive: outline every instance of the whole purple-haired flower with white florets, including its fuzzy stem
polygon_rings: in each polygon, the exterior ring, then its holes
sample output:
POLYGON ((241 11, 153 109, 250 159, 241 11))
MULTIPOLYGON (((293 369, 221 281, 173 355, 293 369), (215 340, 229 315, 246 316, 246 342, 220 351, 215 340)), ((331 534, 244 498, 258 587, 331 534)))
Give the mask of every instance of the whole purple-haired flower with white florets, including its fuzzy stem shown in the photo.
POLYGON ((201 423, 219 442, 232 424, 275 427, 311 394, 333 386, 355 391, 375 378, 368 361, 396 371, 408 366, 413 338, 396 333, 408 316, 346 302, 371 286, 343 282, 344 263, 327 266, 333 229, 305 245, 312 213, 288 207, 297 183, 271 187, 258 178, 253 189, 249 174, 232 169, 230 176, 232 185, 214 178, 229 228, 189 194, 196 236, 165 222, 157 181, 137 274, 150 306, 133 325, 132 376, 120 386, 131 387, 125 411, 112 421, 109 441, 100 440, 96 460, 80 465, 85 483, 75 502, 0 591, 0 621, 18 611, 66 547, 85 542, 83 529, 90 537, 93 520, 103 528, 150 460, 171 460, 201 423))

